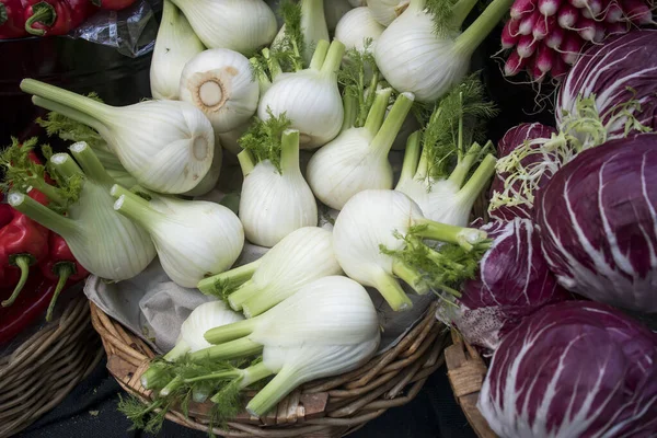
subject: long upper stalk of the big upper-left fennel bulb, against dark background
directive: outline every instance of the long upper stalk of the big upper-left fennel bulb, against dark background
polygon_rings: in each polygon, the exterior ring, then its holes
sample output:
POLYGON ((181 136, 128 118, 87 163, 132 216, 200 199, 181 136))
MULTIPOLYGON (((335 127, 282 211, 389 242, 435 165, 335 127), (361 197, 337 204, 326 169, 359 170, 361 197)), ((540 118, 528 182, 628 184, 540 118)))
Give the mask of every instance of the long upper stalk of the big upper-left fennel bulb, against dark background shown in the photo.
MULTIPOLYGON (((25 93, 33 94, 35 96, 43 97, 48 101, 53 101, 55 103, 79 111, 80 113, 87 114, 88 116, 99 122, 108 117, 112 114, 113 110, 111 106, 105 105, 104 103, 96 102, 93 99, 89 99, 80 94, 76 94, 71 91, 60 89, 59 87, 50 85, 34 79, 23 79, 23 81, 21 82, 21 90, 25 93)), ((64 115, 68 117, 68 114, 64 115)), ((84 123, 82 120, 78 122, 84 123)))

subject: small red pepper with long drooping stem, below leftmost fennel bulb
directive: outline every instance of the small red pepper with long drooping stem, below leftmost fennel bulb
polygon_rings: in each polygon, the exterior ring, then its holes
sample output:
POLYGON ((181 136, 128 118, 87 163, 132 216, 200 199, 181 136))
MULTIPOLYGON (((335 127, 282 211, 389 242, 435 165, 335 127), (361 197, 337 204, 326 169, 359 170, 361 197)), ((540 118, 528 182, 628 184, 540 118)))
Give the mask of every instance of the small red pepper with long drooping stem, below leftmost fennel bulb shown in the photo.
POLYGON ((64 287, 68 283, 74 284, 80 281, 89 275, 89 272, 78 263, 64 238, 50 233, 48 243, 48 258, 42 262, 39 267, 44 277, 57 281, 57 289, 55 289, 55 295, 50 300, 50 306, 48 306, 46 321, 50 321, 53 318, 55 303, 64 287))

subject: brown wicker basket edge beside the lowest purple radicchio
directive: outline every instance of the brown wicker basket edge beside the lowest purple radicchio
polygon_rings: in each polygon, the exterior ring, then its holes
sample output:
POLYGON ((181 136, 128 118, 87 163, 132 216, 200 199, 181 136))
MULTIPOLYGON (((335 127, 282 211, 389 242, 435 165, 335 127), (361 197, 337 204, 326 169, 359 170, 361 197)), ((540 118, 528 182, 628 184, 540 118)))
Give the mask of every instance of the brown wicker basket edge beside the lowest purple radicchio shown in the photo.
POLYGON ((496 438, 497 435, 482 416, 476 402, 486 378, 486 364, 476 350, 468 345, 460 336, 452 336, 453 344, 445 349, 445 361, 447 364, 447 376, 457 397, 457 402, 463 410, 470 426, 480 438, 496 438))

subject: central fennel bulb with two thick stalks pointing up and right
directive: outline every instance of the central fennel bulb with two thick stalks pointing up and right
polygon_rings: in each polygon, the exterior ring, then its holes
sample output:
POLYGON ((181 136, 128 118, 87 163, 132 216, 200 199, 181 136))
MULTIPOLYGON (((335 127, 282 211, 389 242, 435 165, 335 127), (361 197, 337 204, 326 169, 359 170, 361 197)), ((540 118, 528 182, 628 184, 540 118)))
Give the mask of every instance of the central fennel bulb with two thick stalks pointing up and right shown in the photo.
POLYGON ((388 153, 411 111, 413 94, 402 93, 383 120, 391 93, 391 89, 378 91, 364 126, 344 130, 310 159, 308 183, 328 207, 339 210, 368 188, 392 188, 388 153))

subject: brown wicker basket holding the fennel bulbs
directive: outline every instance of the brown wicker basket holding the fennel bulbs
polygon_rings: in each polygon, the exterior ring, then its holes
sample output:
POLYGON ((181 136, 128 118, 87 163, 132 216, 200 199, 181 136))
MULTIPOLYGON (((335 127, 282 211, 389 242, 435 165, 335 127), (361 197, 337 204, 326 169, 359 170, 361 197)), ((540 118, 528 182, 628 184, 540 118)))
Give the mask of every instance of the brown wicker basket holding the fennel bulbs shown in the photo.
MULTIPOLYGON (((255 418, 246 413, 228 423, 216 435, 246 437, 342 437, 362 427, 387 410, 413 400, 423 384, 443 362, 448 332, 435 318, 434 303, 422 321, 391 350, 373 358, 358 370, 306 384, 278 404, 275 414, 255 418)), ((107 353, 107 368, 127 391, 149 399, 140 383, 149 360, 150 347, 91 303, 93 326, 107 353)), ((250 394, 247 393, 246 396, 250 394)), ((209 404, 189 405, 189 417, 170 412, 172 422, 208 430, 209 404)))

